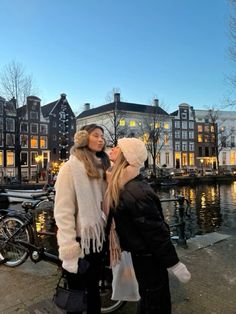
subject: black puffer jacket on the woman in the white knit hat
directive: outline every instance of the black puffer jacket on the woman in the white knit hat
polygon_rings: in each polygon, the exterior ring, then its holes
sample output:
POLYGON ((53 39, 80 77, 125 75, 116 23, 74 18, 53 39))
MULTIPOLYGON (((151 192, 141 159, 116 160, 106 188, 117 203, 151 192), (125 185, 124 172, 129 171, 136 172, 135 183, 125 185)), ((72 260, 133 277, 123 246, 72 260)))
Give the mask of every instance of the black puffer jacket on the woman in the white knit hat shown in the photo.
POLYGON ((119 205, 112 213, 123 250, 141 255, 152 253, 166 268, 178 263, 160 200, 141 175, 124 186, 119 205))

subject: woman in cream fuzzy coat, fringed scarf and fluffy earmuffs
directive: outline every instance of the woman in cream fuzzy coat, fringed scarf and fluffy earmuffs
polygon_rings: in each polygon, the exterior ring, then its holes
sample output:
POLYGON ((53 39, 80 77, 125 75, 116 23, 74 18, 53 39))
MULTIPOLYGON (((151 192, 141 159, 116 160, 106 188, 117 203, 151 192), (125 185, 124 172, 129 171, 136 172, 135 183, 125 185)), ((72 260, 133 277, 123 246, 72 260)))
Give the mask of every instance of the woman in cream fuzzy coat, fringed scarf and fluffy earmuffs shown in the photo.
POLYGON ((90 124, 76 132, 55 185, 59 258, 69 288, 87 289, 88 314, 101 313, 98 282, 106 223, 102 201, 109 167, 104 147, 102 127, 90 124))

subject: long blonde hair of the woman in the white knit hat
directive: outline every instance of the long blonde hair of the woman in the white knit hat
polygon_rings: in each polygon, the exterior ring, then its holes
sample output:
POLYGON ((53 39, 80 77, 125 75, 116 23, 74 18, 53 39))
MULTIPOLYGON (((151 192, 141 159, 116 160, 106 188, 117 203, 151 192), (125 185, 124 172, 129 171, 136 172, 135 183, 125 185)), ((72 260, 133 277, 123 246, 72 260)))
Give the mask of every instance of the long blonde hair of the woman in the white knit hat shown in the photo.
POLYGON ((108 208, 116 208, 119 203, 120 197, 120 190, 121 190, 121 173, 123 172, 124 168, 129 165, 127 160, 125 159, 123 153, 120 151, 116 162, 111 170, 109 176, 109 182, 106 190, 105 199, 107 200, 106 206, 108 208))

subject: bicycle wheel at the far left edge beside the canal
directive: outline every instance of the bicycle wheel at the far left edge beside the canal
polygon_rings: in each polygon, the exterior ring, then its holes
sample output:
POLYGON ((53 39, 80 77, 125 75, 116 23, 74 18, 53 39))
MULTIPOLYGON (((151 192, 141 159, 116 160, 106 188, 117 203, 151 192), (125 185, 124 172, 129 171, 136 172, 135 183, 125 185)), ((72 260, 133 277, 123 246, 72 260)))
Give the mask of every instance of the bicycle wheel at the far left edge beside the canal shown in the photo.
POLYGON ((22 227, 24 222, 18 217, 6 216, 0 222, 0 247, 17 231, 12 239, 7 241, 1 250, 2 255, 6 258, 4 263, 9 267, 21 265, 28 258, 29 252, 26 247, 17 240, 31 243, 32 237, 27 227, 22 227))

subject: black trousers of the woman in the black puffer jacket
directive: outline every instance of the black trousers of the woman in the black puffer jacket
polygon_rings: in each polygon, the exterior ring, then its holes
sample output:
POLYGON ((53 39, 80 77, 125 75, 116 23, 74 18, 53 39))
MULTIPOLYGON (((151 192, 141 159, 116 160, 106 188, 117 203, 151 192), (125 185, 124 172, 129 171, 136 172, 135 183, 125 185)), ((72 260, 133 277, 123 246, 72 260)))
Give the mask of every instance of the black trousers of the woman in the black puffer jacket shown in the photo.
POLYGON ((132 254, 132 260, 141 297, 137 314, 171 314, 168 271, 152 255, 132 254))

